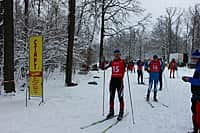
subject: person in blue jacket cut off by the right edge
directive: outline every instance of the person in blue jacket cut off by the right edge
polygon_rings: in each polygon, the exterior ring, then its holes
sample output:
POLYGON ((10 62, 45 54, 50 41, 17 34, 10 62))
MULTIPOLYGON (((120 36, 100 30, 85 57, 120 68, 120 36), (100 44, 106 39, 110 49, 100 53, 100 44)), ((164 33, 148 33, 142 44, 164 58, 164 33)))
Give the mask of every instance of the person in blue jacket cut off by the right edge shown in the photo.
POLYGON ((191 83, 192 92, 192 122, 194 131, 191 133, 200 132, 200 53, 192 57, 196 63, 196 69, 193 77, 183 76, 182 80, 191 83), (198 132, 199 131, 199 132, 198 132))

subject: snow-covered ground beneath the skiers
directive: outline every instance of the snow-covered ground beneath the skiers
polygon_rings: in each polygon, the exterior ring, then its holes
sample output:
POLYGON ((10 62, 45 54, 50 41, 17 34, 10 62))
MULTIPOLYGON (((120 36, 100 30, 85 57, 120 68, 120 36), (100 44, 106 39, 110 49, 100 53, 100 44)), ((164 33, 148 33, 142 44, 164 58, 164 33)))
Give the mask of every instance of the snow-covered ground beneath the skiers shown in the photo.
MULTIPOLYGON (((169 78, 169 71, 163 74, 164 87, 158 93, 160 103, 145 101, 147 85, 137 84, 137 74, 129 73, 135 124, 132 124, 131 106, 127 76, 124 79, 125 112, 129 115, 108 133, 186 133, 192 129, 190 112, 190 84, 181 81, 183 75, 192 76, 193 70, 179 68, 175 79, 169 78)), ((148 73, 145 73, 148 84, 148 73)), ((110 70, 106 71, 105 112, 108 112, 108 84, 110 70)), ((40 99, 32 98, 25 107, 25 92, 17 91, 16 96, 0 96, 0 133, 101 133, 115 119, 96 126, 80 129, 104 118, 102 116, 103 71, 88 75, 75 75, 76 87, 64 87, 64 74, 55 72, 44 80, 45 104, 38 106, 40 99), (94 79, 93 76, 99 76, 94 79), (89 85, 96 81, 98 85, 89 85)), ((116 97, 115 113, 118 113, 116 97)))

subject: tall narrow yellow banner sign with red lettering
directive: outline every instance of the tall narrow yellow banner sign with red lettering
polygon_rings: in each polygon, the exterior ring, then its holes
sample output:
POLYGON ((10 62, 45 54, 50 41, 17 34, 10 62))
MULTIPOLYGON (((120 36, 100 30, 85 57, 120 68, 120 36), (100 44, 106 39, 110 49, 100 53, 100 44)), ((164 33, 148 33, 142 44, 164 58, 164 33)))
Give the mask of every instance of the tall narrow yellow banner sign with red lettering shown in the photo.
POLYGON ((42 97, 42 75, 42 36, 32 36, 29 50, 30 96, 42 97))

